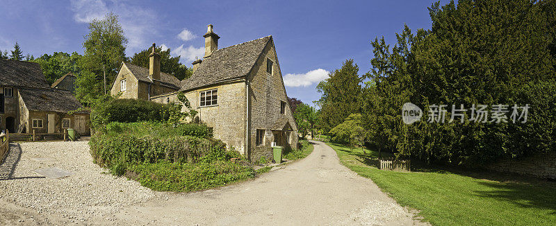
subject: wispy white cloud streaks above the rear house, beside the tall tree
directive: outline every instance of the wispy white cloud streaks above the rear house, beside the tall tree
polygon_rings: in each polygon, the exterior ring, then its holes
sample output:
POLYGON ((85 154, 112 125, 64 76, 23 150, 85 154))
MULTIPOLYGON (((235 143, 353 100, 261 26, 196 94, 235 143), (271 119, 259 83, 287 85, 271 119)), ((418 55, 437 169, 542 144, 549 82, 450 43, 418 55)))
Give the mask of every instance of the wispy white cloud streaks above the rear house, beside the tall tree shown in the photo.
POLYGON ((152 10, 131 6, 126 1, 116 0, 71 0, 74 20, 89 23, 101 19, 108 12, 120 16, 120 24, 129 40, 128 47, 141 50, 149 46, 147 36, 158 33, 156 13, 152 10))

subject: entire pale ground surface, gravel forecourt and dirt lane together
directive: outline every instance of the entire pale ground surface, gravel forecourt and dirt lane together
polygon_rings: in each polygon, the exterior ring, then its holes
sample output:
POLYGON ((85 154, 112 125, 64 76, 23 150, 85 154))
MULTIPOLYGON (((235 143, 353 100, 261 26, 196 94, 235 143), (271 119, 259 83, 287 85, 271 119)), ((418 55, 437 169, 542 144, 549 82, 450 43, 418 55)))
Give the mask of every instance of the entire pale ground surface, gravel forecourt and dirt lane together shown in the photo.
POLYGON ((16 224, 427 225, 412 219, 372 180, 342 166, 336 152, 320 142, 305 159, 254 180, 195 193, 154 193, 108 175, 92 164, 85 143, 21 146, 15 173, 0 179, 0 205, 7 205, 0 214, 14 214, 9 209, 15 208, 25 214, 13 218, 16 224), (53 160, 33 160, 44 157, 53 160), (76 174, 49 180, 32 172, 46 166, 76 174))

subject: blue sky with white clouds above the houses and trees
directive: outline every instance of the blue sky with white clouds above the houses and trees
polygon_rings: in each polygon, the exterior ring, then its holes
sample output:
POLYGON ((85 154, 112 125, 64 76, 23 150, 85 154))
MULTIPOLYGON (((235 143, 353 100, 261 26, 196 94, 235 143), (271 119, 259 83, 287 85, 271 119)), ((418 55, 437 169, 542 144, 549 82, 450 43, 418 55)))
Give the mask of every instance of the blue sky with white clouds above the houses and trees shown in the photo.
MULTIPOLYGON (((288 96, 311 103, 318 82, 348 58, 370 70, 371 40, 390 43, 407 24, 430 28, 434 1, 0 1, 0 50, 19 42, 24 54, 83 53, 87 23, 113 11, 129 39, 126 55, 156 42, 190 66, 202 56, 206 25, 220 48, 272 35, 288 96)), ((447 1, 441 1, 446 3, 447 1)))

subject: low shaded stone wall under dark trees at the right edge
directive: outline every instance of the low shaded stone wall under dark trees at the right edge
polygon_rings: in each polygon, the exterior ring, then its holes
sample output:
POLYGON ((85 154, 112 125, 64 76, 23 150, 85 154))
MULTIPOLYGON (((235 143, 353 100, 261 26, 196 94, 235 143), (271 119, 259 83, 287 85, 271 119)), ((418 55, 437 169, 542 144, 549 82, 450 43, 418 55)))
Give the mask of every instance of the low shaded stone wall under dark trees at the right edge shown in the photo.
POLYGON ((532 155, 518 160, 503 159, 486 166, 486 168, 491 171, 556 179, 556 151, 532 155))

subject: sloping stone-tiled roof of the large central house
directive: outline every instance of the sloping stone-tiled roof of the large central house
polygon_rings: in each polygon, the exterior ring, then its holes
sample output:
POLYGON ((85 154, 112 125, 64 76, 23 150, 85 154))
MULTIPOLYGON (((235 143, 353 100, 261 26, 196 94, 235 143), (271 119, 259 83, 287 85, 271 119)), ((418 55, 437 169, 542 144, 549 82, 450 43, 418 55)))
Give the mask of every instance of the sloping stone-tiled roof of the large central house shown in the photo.
POLYGON ((205 58, 190 78, 181 81, 181 91, 213 85, 234 78, 245 78, 272 35, 217 49, 205 58))

